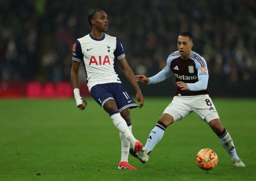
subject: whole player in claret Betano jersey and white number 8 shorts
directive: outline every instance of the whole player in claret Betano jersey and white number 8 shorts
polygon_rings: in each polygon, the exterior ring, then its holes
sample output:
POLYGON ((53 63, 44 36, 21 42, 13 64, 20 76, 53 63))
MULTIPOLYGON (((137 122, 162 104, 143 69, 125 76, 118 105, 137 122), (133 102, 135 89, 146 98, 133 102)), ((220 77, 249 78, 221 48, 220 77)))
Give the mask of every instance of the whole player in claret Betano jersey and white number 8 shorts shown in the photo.
MULTIPOLYGON (((222 146, 231 156, 234 166, 244 167, 244 163, 237 156, 233 140, 229 132, 222 126, 217 110, 208 95, 207 83, 209 76, 206 61, 198 53, 191 50, 193 36, 188 32, 181 33, 178 36, 177 43, 178 51, 170 54, 166 66, 161 72, 151 78, 144 75, 135 76, 138 82, 145 84, 162 82, 169 78, 172 73, 176 77, 175 96, 148 136, 145 145, 147 155, 162 139, 167 126, 174 121, 182 121, 184 117, 195 112, 217 134, 222 146)), ((144 157, 144 155, 136 153, 132 147, 130 153, 142 163, 148 161, 148 156, 144 157)))

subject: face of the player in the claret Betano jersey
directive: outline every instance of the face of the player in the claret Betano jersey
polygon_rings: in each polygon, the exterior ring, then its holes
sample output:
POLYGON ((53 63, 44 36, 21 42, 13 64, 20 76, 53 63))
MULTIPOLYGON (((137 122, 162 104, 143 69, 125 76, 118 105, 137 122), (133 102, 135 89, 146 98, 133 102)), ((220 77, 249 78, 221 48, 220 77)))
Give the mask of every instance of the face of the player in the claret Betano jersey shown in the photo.
POLYGON ((180 52, 181 58, 184 57, 187 60, 191 55, 191 48, 194 44, 188 40, 188 37, 178 37, 178 50, 180 52), (186 59, 187 58, 187 59, 186 59))

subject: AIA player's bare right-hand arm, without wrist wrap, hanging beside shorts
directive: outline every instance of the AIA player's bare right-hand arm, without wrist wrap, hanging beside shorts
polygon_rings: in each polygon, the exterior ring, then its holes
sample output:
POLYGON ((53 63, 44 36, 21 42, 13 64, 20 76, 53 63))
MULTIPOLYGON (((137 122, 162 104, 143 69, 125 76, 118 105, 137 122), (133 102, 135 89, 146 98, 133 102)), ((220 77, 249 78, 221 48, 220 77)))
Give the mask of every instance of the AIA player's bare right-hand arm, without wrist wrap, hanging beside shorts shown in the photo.
POLYGON ((137 92, 136 99, 138 100, 138 102, 140 104, 138 107, 139 107, 139 109, 142 108, 142 106, 144 105, 144 98, 143 98, 142 92, 140 90, 140 87, 139 87, 138 83, 136 82, 136 79, 134 78, 134 73, 132 72, 131 67, 129 67, 125 57, 119 59, 118 63, 120 65, 120 67, 122 68, 125 77, 129 81, 129 83, 132 84, 134 89, 136 90, 136 92, 137 92))

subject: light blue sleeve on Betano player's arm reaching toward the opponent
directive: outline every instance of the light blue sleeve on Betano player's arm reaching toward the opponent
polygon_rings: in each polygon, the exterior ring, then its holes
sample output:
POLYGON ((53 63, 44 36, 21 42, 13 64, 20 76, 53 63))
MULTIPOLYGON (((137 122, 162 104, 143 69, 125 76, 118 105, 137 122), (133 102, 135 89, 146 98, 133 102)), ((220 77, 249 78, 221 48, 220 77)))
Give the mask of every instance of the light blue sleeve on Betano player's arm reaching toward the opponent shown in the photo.
POLYGON ((171 61, 167 59, 165 68, 162 69, 162 71, 160 71, 157 75, 154 75, 153 77, 148 78, 149 79, 148 84, 155 84, 169 78, 169 76, 172 75, 173 73, 172 69, 170 68, 170 63, 171 61))

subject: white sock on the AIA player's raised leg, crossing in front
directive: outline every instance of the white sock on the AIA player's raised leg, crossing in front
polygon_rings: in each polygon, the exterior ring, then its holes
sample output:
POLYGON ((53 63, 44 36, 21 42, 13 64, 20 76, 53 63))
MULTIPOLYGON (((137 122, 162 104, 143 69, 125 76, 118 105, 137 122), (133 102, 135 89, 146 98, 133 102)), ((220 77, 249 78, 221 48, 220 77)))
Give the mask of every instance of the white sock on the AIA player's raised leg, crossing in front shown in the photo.
POLYGON ((123 135, 127 138, 127 140, 132 144, 132 146, 135 146, 136 142, 139 142, 138 140, 135 139, 135 137, 132 135, 132 132, 127 126, 126 121, 124 118, 121 116, 120 112, 114 112, 109 114, 110 118, 112 119, 114 125, 116 128, 123 133, 123 135))

